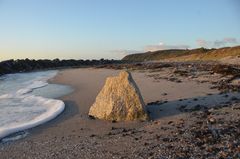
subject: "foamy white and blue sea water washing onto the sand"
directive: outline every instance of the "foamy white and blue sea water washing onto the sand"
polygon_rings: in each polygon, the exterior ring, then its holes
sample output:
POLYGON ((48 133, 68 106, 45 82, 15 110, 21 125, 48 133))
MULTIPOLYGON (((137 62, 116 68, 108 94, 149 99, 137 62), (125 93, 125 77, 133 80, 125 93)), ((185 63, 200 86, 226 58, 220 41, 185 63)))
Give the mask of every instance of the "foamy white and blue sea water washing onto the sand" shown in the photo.
POLYGON ((47 121, 65 108, 63 95, 71 87, 49 84, 57 71, 8 74, 0 77, 0 140, 47 121))

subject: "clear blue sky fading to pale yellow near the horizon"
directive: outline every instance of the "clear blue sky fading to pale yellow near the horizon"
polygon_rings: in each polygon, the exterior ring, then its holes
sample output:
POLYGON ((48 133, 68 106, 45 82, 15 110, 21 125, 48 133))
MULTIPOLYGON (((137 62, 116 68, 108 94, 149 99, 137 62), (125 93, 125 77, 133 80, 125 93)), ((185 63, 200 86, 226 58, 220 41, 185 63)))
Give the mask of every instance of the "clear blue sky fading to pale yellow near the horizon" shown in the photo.
POLYGON ((0 60, 239 43, 239 0, 0 0, 0 60))

